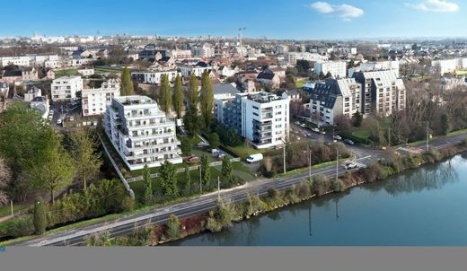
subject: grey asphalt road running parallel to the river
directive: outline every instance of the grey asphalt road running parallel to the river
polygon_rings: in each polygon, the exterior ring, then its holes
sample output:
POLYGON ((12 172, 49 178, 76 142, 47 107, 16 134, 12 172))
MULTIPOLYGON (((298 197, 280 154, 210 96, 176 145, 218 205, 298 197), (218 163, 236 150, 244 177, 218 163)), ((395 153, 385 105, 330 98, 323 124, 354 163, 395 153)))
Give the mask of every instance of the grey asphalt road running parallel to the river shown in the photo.
MULTIPOLYGON (((447 145, 458 144, 463 138, 467 137, 467 133, 463 133, 457 136, 438 138, 430 143, 431 147, 443 148, 447 145)), ((419 144, 417 148, 423 148, 424 144, 419 144)), ((381 151, 375 151, 371 149, 361 150, 363 147, 355 147, 360 153, 360 156, 355 160, 357 162, 369 165, 377 162, 378 159, 383 158, 384 154, 381 151), (366 153, 371 153, 366 156, 361 156, 366 153)), ((343 174, 345 169, 343 166, 339 166, 339 174, 343 174)), ((327 177, 333 177, 336 174, 336 167, 334 165, 313 170, 312 175, 324 175, 327 177)), ((110 238, 117 236, 127 235, 132 233, 138 227, 144 227, 146 223, 158 223, 163 224, 166 222, 170 214, 175 214, 180 218, 185 218, 197 214, 206 214, 207 211, 212 210, 216 207, 216 200, 220 196, 223 199, 230 201, 231 203, 240 202, 248 197, 248 193, 259 194, 265 196, 268 193, 269 188, 278 188, 283 190, 290 188, 293 185, 301 182, 303 179, 308 177, 308 172, 298 173, 291 177, 280 178, 280 179, 258 179, 246 183, 242 187, 231 188, 221 190, 220 194, 217 192, 210 193, 195 199, 191 199, 185 202, 181 202, 175 205, 154 208, 153 210, 141 213, 133 214, 127 217, 123 217, 117 220, 113 220, 105 223, 96 223, 89 226, 79 227, 72 230, 57 232, 50 234, 45 237, 40 237, 34 240, 27 240, 13 245, 19 246, 77 246, 83 245, 84 240, 87 236, 90 236, 96 232, 107 231, 110 234, 110 238)))

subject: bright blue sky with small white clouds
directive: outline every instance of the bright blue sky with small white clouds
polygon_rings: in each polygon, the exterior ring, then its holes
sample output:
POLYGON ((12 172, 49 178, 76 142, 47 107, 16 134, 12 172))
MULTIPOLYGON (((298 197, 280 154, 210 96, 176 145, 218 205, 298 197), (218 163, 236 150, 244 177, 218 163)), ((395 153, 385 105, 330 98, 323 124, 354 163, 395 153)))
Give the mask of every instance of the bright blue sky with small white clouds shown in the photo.
POLYGON ((465 0, 22 0, 0 37, 228 36, 268 39, 467 37, 465 0))

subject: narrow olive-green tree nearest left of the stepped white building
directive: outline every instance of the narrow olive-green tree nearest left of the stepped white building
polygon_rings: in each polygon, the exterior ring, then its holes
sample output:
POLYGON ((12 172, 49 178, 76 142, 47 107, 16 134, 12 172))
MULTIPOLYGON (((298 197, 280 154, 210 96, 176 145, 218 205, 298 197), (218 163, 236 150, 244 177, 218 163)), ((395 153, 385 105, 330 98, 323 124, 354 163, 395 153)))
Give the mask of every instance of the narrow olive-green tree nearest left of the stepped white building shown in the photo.
POLYGON ((101 169, 101 154, 97 153, 99 143, 89 129, 79 128, 70 136, 71 154, 75 161, 76 177, 87 188, 87 182, 96 177, 101 169))

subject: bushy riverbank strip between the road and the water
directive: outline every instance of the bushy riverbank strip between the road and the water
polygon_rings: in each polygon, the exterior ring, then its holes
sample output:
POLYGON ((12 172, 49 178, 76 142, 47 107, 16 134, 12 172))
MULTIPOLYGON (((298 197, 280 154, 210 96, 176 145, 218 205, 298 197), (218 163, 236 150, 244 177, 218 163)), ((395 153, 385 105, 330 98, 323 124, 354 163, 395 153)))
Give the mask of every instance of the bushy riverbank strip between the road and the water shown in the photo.
POLYGON ((131 236, 118 237, 110 240, 105 232, 99 236, 93 236, 88 245, 158 245, 172 240, 180 240, 190 235, 201 232, 219 232, 233 225, 259 214, 266 214, 286 205, 309 200, 313 197, 321 197, 330 193, 337 193, 353 188, 367 182, 387 179, 404 170, 417 169, 428 163, 440 162, 457 153, 466 151, 465 144, 457 144, 446 147, 440 151, 432 149, 429 153, 410 156, 393 156, 391 159, 378 162, 366 169, 355 172, 347 172, 339 179, 326 179, 317 177, 313 181, 304 179, 298 185, 286 190, 269 189, 266 195, 250 193, 248 200, 242 203, 219 201, 215 211, 201 214, 186 219, 177 220, 176 224, 155 225, 149 224, 144 229, 139 229, 131 236), (176 229, 176 234, 167 232, 176 229))

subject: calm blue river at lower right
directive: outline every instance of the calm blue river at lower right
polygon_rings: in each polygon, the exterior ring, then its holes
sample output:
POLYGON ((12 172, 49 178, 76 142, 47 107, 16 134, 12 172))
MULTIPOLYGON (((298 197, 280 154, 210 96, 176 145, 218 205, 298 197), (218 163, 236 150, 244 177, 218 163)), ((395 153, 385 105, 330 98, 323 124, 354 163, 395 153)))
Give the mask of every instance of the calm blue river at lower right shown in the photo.
POLYGON ((467 246, 467 153, 175 246, 467 246))

